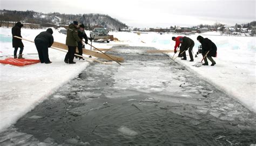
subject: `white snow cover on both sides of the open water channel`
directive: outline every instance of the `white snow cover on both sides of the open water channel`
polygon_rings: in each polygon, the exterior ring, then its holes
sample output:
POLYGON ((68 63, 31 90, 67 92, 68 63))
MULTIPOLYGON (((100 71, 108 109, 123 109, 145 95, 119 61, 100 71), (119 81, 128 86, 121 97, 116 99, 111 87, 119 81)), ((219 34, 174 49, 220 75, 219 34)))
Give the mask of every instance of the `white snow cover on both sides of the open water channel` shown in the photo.
MULTIPOLYGON (((23 38, 33 40, 37 34, 44 30, 22 29, 23 38)), ((86 31, 89 35, 89 32, 86 31)), ((110 48, 111 45, 130 45, 141 47, 155 47, 157 49, 174 48, 173 34, 142 33, 138 35, 133 32, 111 32, 119 42, 95 43, 93 46, 100 48, 110 48)), ((202 59, 201 55, 195 58, 194 62, 176 61, 183 64, 188 70, 196 73, 199 77, 210 82, 228 96, 237 99, 242 105, 253 112, 256 112, 255 99, 255 37, 228 37, 205 34, 205 38, 211 39, 218 47, 218 57, 214 58, 217 65, 214 67, 203 66, 200 68, 192 65, 202 59)), ((194 54, 200 45, 196 37, 200 34, 188 35, 194 40, 194 54)), ((12 55, 11 28, 0 27, 0 55, 12 55), (6 38, 5 38, 6 37, 6 38)), ((54 30, 55 41, 65 42, 65 35, 54 30)), ((24 54, 37 53, 35 45, 31 42, 23 41, 24 54)), ((86 46, 86 49, 90 47, 86 46)), ((168 53, 170 57, 173 53, 168 53)), ((24 114, 31 111, 37 104, 47 99, 63 84, 79 75, 86 69, 89 62, 77 61, 76 64, 65 64, 63 59, 65 53, 58 50, 49 49, 51 64, 33 64, 26 67, 15 67, 12 65, 0 64, 2 83, 0 87, 0 132, 14 124, 24 114)), ((31 59, 37 59, 37 55, 26 55, 31 59)), ((189 57, 188 57, 189 60, 189 57)), ((170 59, 171 61, 171 59, 170 59)))

